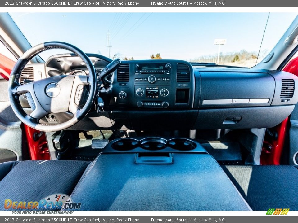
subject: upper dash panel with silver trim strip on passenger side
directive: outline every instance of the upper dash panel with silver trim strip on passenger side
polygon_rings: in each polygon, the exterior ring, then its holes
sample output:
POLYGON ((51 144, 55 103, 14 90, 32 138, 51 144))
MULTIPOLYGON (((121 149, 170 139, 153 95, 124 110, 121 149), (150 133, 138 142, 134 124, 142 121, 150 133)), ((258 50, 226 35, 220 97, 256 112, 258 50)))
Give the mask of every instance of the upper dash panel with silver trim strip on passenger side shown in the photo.
POLYGON ((262 72, 200 71, 200 107, 269 106, 275 81, 262 72))

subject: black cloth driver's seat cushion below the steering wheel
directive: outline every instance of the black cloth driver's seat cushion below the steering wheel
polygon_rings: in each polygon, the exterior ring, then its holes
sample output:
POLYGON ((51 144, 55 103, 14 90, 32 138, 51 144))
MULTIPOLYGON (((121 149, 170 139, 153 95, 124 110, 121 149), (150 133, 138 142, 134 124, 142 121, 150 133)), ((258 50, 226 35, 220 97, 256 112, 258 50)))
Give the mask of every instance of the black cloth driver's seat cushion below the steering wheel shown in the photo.
POLYGON ((52 194, 70 195, 90 162, 28 160, 0 164, 0 210, 4 201, 39 201, 52 194))

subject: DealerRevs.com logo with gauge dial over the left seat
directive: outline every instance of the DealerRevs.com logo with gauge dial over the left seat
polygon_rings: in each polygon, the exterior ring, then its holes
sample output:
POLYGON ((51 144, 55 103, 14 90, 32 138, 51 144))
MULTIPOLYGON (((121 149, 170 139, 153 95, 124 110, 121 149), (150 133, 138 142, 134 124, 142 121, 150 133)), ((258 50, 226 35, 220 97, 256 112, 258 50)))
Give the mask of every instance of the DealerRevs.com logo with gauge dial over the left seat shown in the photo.
POLYGON ((4 201, 6 210, 61 210, 80 209, 81 203, 74 203, 68 195, 53 194, 39 201, 4 201))

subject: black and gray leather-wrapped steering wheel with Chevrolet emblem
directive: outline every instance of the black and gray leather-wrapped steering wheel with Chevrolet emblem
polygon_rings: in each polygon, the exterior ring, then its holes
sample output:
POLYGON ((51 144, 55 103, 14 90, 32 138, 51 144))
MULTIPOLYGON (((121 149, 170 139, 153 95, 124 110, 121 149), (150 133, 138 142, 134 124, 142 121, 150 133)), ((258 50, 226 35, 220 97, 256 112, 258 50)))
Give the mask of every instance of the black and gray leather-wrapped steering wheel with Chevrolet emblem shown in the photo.
MULTIPOLYGON (((40 131, 60 131, 75 125, 91 109, 97 92, 97 75, 88 56, 79 48, 65 42, 45 42, 27 50, 16 62, 8 83, 8 95, 16 116, 26 125, 40 131), (50 49, 64 49, 79 56, 89 71, 88 76, 61 75, 38 81, 19 84, 25 65, 39 53, 50 49), (84 106, 79 106, 79 95, 88 87, 84 106), (20 95, 25 94, 33 112, 27 115, 20 104, 20 95), (63 123, 43 124, 39 120, 50 113, 71 112, 74 116, 63 123)), ((86 94, 85 94, 86 95, 86 94)), ((82 98, 81 98, 82 100, 82 98)))

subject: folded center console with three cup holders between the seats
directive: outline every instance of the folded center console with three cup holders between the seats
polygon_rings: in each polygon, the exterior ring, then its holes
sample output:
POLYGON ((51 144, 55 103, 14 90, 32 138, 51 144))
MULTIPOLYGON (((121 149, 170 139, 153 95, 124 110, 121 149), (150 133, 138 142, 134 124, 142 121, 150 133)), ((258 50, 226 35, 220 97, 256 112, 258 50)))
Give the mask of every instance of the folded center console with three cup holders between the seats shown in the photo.
POLYGON ((251 210, 214 158, 187 138, 111 141, 71 198, 88 211, 251 210))

